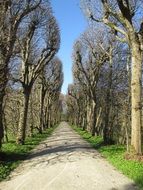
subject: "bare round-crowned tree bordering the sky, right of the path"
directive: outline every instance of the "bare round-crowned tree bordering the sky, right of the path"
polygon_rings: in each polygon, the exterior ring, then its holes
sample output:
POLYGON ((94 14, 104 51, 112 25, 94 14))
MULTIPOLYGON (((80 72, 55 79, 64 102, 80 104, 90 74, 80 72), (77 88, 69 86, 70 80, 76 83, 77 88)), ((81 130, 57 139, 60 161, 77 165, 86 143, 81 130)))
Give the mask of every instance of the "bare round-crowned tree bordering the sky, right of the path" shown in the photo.
MULTIPOLYGON (((102 65, 109 57, 104 49, 99 48, 95 35, 85 33, 75 45, 74 77, 86 89, 87 94, 87 129, 95 135, 96 131, 96 87, 102 65)), ((100 42, 100 44, 102 44, 100 42)))

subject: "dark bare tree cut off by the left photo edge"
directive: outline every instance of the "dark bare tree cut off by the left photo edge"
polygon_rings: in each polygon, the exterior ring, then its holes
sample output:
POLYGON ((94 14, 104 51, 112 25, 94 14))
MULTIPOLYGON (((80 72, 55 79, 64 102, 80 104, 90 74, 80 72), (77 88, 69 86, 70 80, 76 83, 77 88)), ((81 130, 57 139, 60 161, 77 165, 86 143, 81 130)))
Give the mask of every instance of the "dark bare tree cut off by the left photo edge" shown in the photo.
POLYGON ((3 98, 8 81, 8 65, 13 54, 17 31, 23 19, 36 10, 42 0, 0 1, 0 147, 3 138, 3 98))

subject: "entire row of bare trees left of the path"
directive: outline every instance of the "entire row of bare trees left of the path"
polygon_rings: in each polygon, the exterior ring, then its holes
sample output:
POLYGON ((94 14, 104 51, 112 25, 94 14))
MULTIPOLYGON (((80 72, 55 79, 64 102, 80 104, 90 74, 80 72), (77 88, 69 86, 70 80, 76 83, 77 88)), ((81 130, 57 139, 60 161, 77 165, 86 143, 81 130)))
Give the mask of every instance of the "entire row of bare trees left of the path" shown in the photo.
POLYGON ((52 109, 60 101, 60 32, 48 1, 1 1, 0 10, 0 142, 8 128, 24 144, 26 134, 44 129, 47 94, 52 109))

